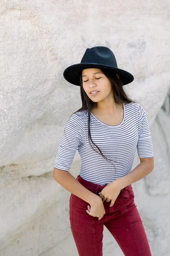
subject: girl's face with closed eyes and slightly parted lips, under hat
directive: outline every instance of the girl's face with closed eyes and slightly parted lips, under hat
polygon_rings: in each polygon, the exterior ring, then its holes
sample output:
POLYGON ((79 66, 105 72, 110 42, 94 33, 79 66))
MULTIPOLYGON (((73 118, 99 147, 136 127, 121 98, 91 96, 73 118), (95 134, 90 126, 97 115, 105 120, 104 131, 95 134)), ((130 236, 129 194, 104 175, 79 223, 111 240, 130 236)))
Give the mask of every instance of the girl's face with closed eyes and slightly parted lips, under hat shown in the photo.
POLYGON ((98 68, 88 68, 82 71, 83 88, 93 102, 107 101, 113 98, 113 88, 110 80, 98 68))

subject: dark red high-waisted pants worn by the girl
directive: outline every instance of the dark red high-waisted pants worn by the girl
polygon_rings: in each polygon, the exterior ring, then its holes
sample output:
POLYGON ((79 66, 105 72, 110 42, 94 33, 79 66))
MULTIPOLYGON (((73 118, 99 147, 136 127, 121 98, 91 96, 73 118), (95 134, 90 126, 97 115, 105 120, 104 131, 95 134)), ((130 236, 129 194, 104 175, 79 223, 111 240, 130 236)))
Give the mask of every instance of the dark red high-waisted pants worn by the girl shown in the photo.
MULTIPOLYGON (((97 194, 106 186, 77 180, 91 192, 97 194)), ((71 231, 79 256, 102 256, 103 228, 113 235, 126 256, 151 256, 146 233, 134 202, 132 186, 121 189, 113 207, 104 202, 106 213, 101 220, 86 212, 88 203, 71 194, 71 231)))

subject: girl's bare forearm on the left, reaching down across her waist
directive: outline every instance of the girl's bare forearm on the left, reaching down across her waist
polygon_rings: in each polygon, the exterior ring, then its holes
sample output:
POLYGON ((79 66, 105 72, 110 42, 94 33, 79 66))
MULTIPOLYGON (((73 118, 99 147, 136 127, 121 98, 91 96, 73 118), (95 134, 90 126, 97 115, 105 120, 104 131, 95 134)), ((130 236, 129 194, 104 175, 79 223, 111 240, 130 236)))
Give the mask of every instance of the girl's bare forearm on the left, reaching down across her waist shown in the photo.
POLYGON ((66 190, 78 196, 85 202, 88 202, 90 205, 100 200, 98 195, 95 195, 94 193, 86 189, 68 171, 54 168, 53 178, 66 190))

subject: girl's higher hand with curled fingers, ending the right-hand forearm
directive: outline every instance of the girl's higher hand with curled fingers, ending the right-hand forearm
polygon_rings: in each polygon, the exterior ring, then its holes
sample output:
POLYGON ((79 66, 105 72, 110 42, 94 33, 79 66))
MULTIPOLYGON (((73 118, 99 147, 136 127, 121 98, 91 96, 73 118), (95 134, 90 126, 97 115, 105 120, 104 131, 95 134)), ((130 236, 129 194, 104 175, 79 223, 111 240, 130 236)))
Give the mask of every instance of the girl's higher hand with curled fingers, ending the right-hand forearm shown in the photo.
POLYGON ((121 189, 116 186, 116 182, 109 183, 107 186, 102 189, 102 191, 99 193, 100 198, 102 199, 102 202, 110 202, 110 207, 113 206, 115 203, 116 198, 118 197, 121 189))

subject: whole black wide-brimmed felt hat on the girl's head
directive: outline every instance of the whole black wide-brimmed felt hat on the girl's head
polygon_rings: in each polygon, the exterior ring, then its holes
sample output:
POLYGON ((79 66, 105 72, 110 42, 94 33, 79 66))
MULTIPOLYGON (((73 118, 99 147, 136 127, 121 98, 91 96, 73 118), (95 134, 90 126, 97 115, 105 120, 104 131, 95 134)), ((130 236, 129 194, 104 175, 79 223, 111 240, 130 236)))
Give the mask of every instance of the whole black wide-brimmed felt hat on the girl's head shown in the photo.
POLYGON ((80 85, 79 73, 86 68, 99 68, 113 71, 121 77, 124 85, 131 83, 134 79, 129 72, 119 69, 113 52, 104 46, 87 48, 81 63, 74 64, 64 70, 63 76, 69 83, 80 85))

